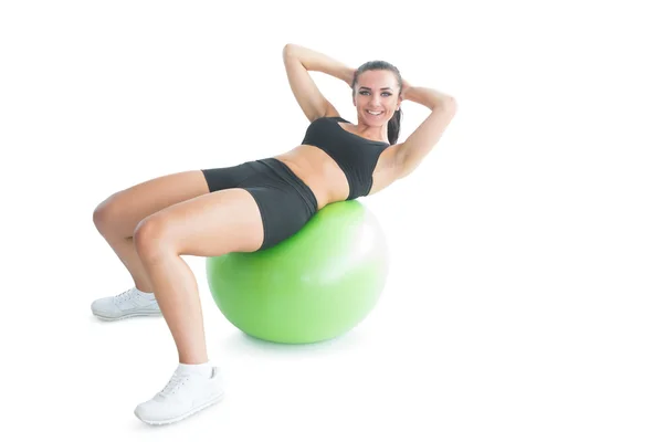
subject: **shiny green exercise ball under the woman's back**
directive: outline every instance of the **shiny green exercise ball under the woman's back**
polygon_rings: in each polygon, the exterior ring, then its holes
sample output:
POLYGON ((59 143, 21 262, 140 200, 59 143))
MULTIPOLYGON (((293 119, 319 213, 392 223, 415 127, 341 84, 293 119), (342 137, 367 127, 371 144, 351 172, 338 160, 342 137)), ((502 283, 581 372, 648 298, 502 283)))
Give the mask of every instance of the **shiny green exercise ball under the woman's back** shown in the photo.
POLYGON ((270 249, 208 257, 207 278, 217 306, 240 330, 309 344, 357 326, 378 302, 388 266, 376 217, 349 200, 325 206, 270 249))

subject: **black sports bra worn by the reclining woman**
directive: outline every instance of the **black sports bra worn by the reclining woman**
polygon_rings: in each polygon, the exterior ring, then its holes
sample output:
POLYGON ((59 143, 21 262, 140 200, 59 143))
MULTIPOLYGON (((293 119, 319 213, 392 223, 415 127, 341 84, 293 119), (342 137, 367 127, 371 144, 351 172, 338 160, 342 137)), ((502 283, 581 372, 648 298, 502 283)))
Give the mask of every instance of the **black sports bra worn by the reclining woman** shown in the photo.
POLYGON ((390 144, 360 137, 340 127, 338 122, 349 123, 341 117, 315 119, 302 144, 320 148, 338 164, 350 188, 347 199, 352 200, 370 192, 378 158, 390 144))

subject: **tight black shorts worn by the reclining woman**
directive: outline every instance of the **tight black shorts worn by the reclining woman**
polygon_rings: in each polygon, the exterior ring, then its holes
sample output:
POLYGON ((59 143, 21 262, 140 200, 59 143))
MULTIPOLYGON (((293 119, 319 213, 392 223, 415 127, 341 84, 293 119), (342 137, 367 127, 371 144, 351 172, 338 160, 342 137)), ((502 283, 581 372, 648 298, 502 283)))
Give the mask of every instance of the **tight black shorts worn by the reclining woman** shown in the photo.
POLYGON ((317 199, 308 186, 276 158, 239 166, 202 169, 210 192, 240 188, 255 199, 269 249, 295 234, 317 211, 317 199))

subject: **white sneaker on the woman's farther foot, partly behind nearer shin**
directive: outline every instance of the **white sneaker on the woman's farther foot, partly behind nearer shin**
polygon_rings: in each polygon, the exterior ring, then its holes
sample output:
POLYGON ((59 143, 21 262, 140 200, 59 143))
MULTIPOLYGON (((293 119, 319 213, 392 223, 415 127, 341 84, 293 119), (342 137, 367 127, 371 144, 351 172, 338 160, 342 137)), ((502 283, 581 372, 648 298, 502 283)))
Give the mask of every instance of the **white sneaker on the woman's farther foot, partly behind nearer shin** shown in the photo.
POLYGON ((161 316, 154 295, 145 296, 136 287, 117 296, 103 297, 92 303, 92 313, 104 320, 117 320, 131 316, 161 316))

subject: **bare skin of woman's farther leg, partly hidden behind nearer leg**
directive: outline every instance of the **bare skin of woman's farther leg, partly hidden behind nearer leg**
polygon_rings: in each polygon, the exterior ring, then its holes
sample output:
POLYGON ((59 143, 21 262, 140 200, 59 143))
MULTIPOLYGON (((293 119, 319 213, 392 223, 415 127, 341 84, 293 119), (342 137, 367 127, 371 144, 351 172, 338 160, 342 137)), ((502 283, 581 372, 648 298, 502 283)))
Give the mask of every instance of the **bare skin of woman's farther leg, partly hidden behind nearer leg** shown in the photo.
POLYGON ((151 179, 114 193, 94 211, 94 223, 131 274, 136 287, 151 293, 152 286, 134 246, 134 230, 146 217, 169 206, 208 193, 200 170, 151 179))

